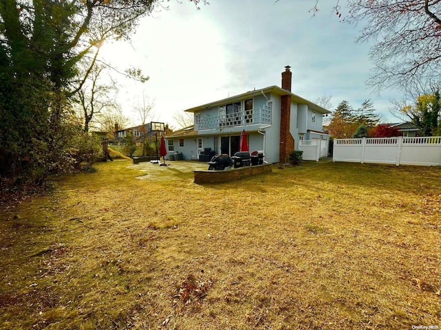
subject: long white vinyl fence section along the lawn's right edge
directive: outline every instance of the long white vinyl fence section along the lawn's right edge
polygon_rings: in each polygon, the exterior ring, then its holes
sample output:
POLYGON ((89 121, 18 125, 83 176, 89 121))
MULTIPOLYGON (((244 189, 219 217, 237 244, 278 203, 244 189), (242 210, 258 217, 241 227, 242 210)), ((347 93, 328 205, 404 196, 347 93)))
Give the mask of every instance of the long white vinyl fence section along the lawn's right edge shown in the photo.
POLYGON ((441 137, 373 137, 334 140, 334 162, 441 165, 441 137))

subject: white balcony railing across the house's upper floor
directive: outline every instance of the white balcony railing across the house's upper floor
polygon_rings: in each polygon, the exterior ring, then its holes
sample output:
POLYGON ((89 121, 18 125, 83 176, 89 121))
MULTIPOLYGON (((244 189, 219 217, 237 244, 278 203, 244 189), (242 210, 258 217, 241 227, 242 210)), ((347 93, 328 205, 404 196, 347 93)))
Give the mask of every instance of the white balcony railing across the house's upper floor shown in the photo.
POLYGON ((254 124, 271 124, 271 108, 263 107, 225 115, 214 115, 199 119, 198 130, 221 129, 232 126, 249 126, 254 124))

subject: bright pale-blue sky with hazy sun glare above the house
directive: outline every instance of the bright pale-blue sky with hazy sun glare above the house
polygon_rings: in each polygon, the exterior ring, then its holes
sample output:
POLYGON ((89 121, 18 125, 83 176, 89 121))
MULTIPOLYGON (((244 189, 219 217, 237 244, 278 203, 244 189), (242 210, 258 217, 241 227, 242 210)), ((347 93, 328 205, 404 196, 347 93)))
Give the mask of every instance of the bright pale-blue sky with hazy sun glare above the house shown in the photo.
MULTIPOLYGON (((380 95, 365 86, 373 63, 369 44, 355 40, 360 27, 341 23, 334 1, 211 0, 196 10, 192 3, 170 1, 139 24, 131 43, 104 45, 102 56, 119 69, 139 67, 147 83, 115 76, 124 113, 136 124, 134 107, 154 104, 153 120, 174 124, 175 113, 254 88, 280 86, 285 65, 293 72, 292 92, 316 100, 331 96, 357 108, 371 99, 383 122, 400 91, 380 95)), ((342 8, 345 14, 345 8, 342 8)))

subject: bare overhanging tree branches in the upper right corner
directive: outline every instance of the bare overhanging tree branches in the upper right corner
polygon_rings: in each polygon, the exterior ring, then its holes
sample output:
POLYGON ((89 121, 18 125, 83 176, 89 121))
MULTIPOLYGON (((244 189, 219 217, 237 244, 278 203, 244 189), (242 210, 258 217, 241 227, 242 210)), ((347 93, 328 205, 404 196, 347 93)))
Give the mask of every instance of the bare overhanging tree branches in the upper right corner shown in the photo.
POLYGON ((376 69, 367 81, 377 91, 412 92, 441 81, 440 0, 348 0, 344 21, 362 23, 358 43, 374 41, 376 69))

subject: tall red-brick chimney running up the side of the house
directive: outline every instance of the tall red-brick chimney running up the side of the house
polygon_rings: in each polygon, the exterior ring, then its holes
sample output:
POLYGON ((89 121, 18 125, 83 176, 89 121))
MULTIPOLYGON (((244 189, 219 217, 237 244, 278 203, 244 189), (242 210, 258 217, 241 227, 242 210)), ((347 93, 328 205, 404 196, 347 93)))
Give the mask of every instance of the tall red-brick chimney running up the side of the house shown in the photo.
MULTIPOLYGON (((291 76, 289 70, 290 66, 285 67, 285 72, 282 72, 282 89, 291 91, 291 76)), ((294 151, 294 137, 289 132, 289 122, 291 119, 291 95, 283 95, 280 102, 280 142, 279 142, 279 162, 285 163, 289 161, 289 153, 294 151)))

